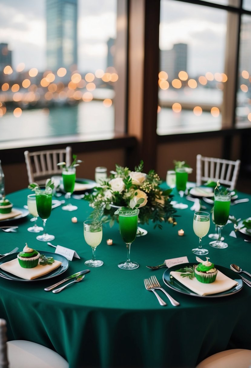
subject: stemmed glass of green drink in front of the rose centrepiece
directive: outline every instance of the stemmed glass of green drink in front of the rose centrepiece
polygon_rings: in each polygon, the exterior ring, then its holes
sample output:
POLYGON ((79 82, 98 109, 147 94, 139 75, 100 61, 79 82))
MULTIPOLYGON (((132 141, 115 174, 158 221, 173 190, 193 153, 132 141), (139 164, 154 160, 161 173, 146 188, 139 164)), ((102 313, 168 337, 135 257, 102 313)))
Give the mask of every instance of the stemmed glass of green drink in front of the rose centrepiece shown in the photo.
POLYGON ((137 234, 139 209, 121 207, 118 210, 118 212, 119 212, 119 231, 127 248, 127 260, 125 262, 119 263, 118 266, 123 270, 134 270, 135 268, 138 268, 139 264, 137 262, 132 262, 130 260, 130 248, 137 234))

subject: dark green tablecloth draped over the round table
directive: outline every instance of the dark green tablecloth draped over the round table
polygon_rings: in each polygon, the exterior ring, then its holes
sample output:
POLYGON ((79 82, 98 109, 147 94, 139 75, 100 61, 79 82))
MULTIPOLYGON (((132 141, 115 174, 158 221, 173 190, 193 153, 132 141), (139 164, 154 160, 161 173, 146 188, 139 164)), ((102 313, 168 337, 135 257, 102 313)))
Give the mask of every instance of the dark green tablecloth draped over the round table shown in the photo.
MULTIPOLYGON (((8 195, 15 206, 26 204, 29 190, 8 195)), ((251 196, 239 193, 239 198, 251 196)), ((173 307, 167 302, 161 307, 153 293, 145 290, 143 279, 156 275, 162 286, 164 268, 152 270, 146 265, 157 265, 165 259, 187 256, 195 261, 191 249, 198 244, 192 230, 192 202, 183 199, 189 207, 178 210, 175 227, 166 223, 163 230, 153 225, 142 226, 148 234, 137 237, 131 247, 131 259, 139 263, 136 270, 121 270, 117 263, 126 259, 126 247, 120 238, 118 225, 112 229, 103 226, 102 243, 96 250, 104 265, 92 268, 81 283, 71 285, 59 294, 44 291, 44 287, 77 271, 85 269, 84 261, 91 258, 91 248, 85 243, 83 222, 90 208, 84 200, 72 200, 78 206, 74 212, 60 207, 52 210, 47 221, 48 233, 55 235, 52 244, 75 249, 81 259, 74 258, 67 271, 54 279, 36 282, 16 282, 0 278, 0 317, 8 323, 8 338, 30 340, 56 350, 69 362, 71 368, 80 367, 195 367, 213 353, 227 348, 251 349, 251 288, 232 296, 201 298, 165 289, 180 302, 173 307), (71 218, 76 216, 77 223, 71 218), (178 236, 184 229, 185 235, 178 236), (108 246, 106 240, 113 239, 108 246)), ((231 206, 230 214, 242 219, 251 216, 251 201, 231 206)), ((207 205, 210 209, 210 205, 207 205)), ((54 252, 47 243, 36 240, 29 233, 27 216, 18 223, 17 233, 0 233, 0 253, 25 243, 29 247, 54 252)), ((12 223, 12 222, 11 222, 12 223)), ((41 220, 38 220, 41 224, 41 220)), ((16 223, 15 223, 16 224, 16 223)), ((209 249, 209 257, 216 265, 230 263, 251 271, 251 243, 244 236, 229 237, 232 224, 223 228, 229 247, 211 248, 209 238, 202 241, 209 249)), ((210 232, 214 231, 211 223, 210 232)))

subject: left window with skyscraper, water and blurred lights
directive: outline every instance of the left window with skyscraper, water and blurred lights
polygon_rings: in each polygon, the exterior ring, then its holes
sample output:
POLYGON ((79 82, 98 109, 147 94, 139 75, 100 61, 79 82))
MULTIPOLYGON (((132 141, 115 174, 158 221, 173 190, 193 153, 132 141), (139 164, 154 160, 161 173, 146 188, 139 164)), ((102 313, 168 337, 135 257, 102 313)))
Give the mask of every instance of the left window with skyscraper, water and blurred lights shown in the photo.
POLYGON ((112 137, 117 1, 0 0, 0 7, 0 144, 112 137))

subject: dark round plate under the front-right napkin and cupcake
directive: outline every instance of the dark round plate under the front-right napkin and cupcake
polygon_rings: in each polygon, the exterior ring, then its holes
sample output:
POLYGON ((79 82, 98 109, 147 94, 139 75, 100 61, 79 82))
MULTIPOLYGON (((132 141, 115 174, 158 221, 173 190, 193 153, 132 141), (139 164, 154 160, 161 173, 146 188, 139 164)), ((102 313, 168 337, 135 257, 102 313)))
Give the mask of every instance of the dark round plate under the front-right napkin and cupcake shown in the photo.
POLYGON ((232 271, 231 269, 228 269, 228 268, 223 267, 223 266, 218 266, 218 265, 215 265, 215 267, 220 272, 224 273, 225 276, 227 276, 230 279, 235 280, 236 282, 238 282, 238 285, 232 287, 229 290, 222 291, 222 293, 211 294, 211 295, 199 295, 199 294, 194 293, 194 291, 188 289, 183 284, 181 284, 174 277, 172 277, 172 279, 170 279, 170 272, 171 271, 175 271, 175 270, 180 269, 181 267, 186 267, 186 266, 187 267, 192 267, 193 265, 198 265, 198 262, 182 263, 182 264, 179 264, 179 265, 175 265, 173 267, 170 267, 169 269, 167 269, 163 273, 163 281, 165 282, 165 284, 168 287, 170 287, 173 290, 178 291, 178 293, 187 294, 187 295, 191 295, 191 296, 194 296, 194 297, 202 297, 202 298, 225 297, 225 296, 228 296, 228 295, 235 294, 235 293, 237 293, 238 291, 240 291, 243 288, 243 282, 242 282, 241 276, 238 275, 238 273, 232 271))

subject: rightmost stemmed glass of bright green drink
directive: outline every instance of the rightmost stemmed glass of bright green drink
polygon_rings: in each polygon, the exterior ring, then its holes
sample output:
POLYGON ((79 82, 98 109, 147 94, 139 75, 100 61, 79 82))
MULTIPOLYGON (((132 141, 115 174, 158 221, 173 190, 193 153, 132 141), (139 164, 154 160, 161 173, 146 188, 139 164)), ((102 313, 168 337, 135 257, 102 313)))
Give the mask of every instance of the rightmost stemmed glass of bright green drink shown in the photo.
POLYGON ((231 194, 215 193, 215 204, 213 208, 213 217, 216 225, 218 225, 219 237, 218 240, 212 241, 210 246, 213 248, 227 248, 228 244, 221 241, 222 227, 226 225, 229 218, 231 194))

